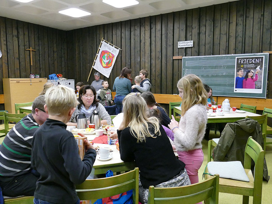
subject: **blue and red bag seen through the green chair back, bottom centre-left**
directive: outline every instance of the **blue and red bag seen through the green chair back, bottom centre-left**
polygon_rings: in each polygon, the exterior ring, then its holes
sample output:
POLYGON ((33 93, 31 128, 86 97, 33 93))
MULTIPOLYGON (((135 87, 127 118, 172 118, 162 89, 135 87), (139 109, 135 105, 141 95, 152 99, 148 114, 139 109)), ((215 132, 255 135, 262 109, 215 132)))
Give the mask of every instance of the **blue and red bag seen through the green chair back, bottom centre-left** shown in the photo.
MULTIPOLYGON (((106 177, 110 176, 113 176, 112 170, 108 170, 106 173, 106 177)), ((132 204, 132 190, 119 195, 98 199, 94 204, 132 204)))

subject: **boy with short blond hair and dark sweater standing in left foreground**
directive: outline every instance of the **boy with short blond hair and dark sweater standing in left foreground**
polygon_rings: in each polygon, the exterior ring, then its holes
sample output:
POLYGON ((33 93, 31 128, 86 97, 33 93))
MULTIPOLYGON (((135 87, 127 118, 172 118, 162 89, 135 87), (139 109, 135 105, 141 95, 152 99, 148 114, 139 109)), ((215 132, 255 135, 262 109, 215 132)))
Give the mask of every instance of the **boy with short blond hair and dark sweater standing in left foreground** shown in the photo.
MULTIPOLYGON (((40 174, 34 203, 79 203, 75 184, 83 183, 92 171, 96 152, 84 140, 85 155, 81 161, 78 145, 65 125, 78 104, 74 90, 62 85, 51 87, 45 94, 44 110, 49 118, 32 139, 31 166, 40 174)), ((84 136, 83 134, 80 134, 84 136)))

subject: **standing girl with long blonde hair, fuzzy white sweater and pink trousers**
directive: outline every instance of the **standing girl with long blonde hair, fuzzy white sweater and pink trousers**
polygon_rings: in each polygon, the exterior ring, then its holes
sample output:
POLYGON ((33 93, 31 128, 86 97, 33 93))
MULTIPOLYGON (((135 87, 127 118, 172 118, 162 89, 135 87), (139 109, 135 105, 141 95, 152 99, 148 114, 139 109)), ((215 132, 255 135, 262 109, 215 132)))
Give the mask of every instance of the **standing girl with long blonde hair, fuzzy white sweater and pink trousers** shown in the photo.
POLYGON ((207 124, 207 94, 200 78, 194 74, 182 77, 177 86, 182 98, 181 118, 178 123, 172 115, 168 126, 174 132, 179 160, 185 163, 193 184, 198 183, 198 170, 204 159, 201 141, 207 124))

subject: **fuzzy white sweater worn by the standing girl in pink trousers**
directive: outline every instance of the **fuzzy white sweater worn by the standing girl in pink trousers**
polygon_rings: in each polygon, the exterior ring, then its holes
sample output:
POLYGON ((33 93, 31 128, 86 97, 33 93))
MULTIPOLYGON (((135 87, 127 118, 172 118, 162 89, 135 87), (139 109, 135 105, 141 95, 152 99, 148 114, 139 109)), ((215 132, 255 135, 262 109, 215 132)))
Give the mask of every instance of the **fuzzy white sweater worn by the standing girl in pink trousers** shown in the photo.
POLYGON ((189 151, 202 148, 201 141, 207 124, 206 107, 195 104, 180 118, 178 130, 175 132, 175 147, 178 151, 189 151))

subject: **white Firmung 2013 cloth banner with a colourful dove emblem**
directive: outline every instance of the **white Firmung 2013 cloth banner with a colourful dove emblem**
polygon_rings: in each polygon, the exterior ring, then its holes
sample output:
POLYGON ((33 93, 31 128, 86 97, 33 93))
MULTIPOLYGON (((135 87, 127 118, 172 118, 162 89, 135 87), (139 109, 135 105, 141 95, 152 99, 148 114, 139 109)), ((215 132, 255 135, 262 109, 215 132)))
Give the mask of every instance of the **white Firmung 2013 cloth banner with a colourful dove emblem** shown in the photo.
POLYGON ((103 74, 105 77, 109 78, 118 53, 118 48, 115 48, 102 40, 102 44, 99 48, 93 68, 103 74))

